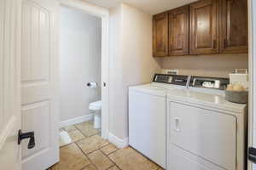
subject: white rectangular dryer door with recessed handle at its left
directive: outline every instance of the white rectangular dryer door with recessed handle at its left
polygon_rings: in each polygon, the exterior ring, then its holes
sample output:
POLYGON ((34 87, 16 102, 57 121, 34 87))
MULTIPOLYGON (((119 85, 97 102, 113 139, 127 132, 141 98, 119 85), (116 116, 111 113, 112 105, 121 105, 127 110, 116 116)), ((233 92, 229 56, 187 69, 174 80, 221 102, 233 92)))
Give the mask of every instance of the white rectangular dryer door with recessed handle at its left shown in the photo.
POLYGON ((175 102, 168 105, 168 142, 219 167, 236 169, 235 116, 175 102))

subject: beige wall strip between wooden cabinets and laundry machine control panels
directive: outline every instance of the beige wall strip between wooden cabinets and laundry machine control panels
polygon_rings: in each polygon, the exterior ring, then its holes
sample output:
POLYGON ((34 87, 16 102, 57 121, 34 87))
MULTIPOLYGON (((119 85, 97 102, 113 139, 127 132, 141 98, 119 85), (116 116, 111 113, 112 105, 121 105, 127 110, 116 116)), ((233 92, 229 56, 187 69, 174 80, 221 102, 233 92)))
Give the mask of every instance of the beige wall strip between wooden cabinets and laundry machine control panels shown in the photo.
POLYGON ((180 75, 229 77, 234 69, 248 68, 248 54, 187 55, 157 60, 162 69, 177 69, 180 75))

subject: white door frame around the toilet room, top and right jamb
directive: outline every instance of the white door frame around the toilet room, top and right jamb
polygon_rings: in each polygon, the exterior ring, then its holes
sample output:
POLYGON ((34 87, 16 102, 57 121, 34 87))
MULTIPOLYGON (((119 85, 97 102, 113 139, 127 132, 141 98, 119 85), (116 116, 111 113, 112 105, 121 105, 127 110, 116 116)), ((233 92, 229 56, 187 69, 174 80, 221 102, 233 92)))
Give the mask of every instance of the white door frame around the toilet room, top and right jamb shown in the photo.
POLYGON ((109 125, 109 59, 108 59, 108 22, 109 11, 91 3, 79 0, 59 0, 59 7, 66 6, 82 10, 102 19, 102 138, 108 139, 109 125), (104 85, 106 83, 106 86, 104 85))

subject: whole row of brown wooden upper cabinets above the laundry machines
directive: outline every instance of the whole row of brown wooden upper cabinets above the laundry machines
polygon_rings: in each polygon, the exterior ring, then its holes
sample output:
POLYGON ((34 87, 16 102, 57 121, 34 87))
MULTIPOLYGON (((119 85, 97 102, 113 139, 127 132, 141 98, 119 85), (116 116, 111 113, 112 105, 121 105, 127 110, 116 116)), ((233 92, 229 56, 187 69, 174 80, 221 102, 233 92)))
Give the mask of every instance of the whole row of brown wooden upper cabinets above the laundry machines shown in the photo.
POLYGON ((248 52, 247 0, 201 0, 153 17, 154 57, 248 52))

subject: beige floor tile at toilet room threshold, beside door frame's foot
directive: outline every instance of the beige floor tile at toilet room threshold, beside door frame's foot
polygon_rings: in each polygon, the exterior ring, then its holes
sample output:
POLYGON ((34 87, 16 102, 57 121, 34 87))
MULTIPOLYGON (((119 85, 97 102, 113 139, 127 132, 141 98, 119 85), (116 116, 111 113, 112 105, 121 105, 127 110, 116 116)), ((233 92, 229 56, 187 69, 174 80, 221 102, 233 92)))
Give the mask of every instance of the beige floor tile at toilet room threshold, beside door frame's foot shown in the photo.
POLYGON ((108 144, 108 140, 102 139, 99 135, 94 135, 86 139, 79 140, 77 142, 79 147, 85 154, 89 154, 94 150, 98 150, 108 144))

